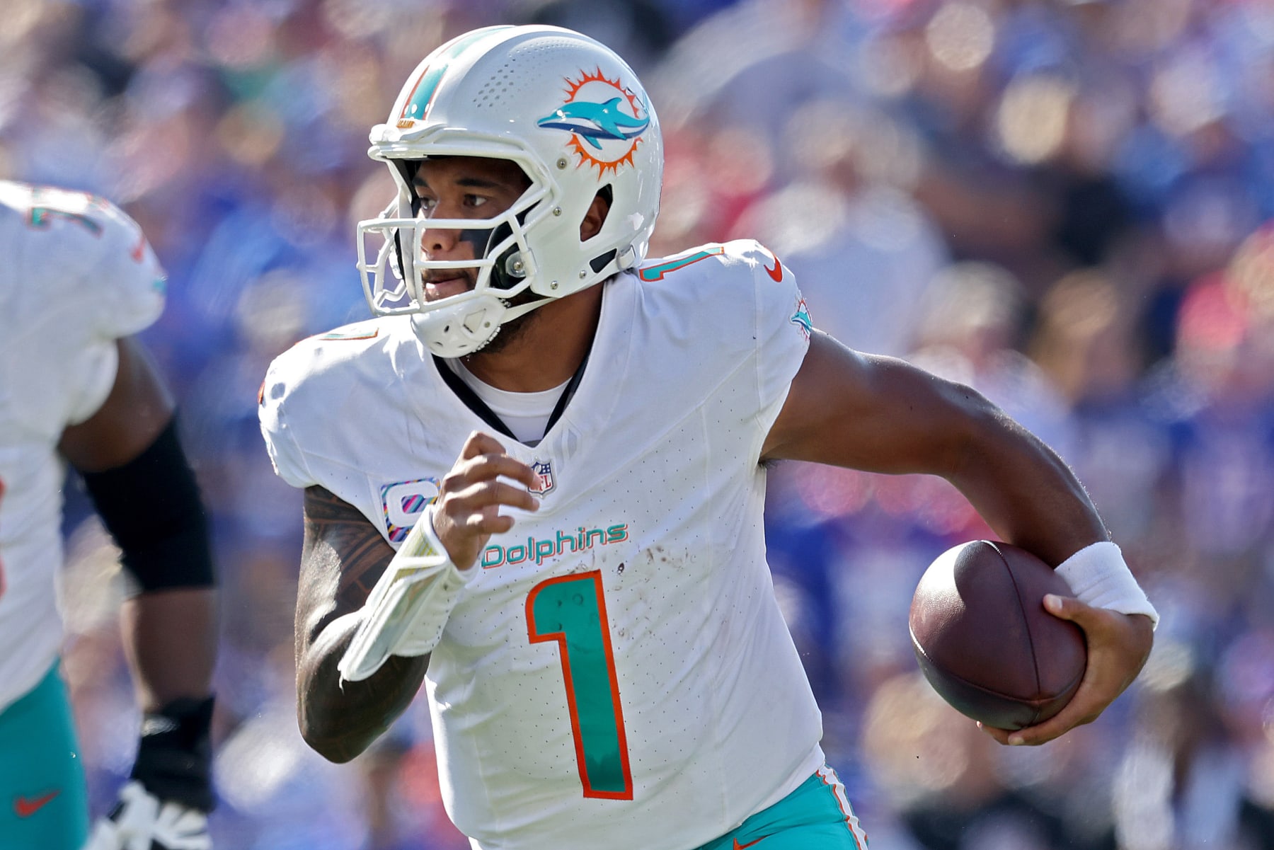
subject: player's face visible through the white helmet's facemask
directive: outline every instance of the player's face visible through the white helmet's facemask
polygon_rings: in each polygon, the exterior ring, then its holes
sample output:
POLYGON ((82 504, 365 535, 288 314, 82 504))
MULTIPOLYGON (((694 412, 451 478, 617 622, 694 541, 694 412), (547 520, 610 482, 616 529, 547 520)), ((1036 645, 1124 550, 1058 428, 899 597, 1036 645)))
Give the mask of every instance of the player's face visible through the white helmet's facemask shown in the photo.
MULTIPOLYGON (((513 205, 530 180, 507 159, 433 157, 420 162, 413 180, 422 218, 492 218, 513 205)), ((489 231, 431 228, 420 247, 428 260, 475 260, 489 231)), ((426 301, 473 289, 476 269, 431 269, 424 275, 426 301)))

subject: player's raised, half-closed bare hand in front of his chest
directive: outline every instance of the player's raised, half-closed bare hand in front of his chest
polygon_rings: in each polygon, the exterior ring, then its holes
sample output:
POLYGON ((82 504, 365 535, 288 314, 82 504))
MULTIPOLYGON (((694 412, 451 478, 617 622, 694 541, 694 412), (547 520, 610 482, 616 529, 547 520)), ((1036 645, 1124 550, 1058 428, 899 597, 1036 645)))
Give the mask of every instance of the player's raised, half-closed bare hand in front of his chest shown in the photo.
POLYGON ((534 486, 531 468, 507 454, 498 440, 480 431, 469 435, 460 457, 438 487, 433 507, 433 531, 451 562, 461 570, 469 568, 492 534, 513 528, 513 517, 502 516, 501 506, 539 508, 527 492, 534 486))

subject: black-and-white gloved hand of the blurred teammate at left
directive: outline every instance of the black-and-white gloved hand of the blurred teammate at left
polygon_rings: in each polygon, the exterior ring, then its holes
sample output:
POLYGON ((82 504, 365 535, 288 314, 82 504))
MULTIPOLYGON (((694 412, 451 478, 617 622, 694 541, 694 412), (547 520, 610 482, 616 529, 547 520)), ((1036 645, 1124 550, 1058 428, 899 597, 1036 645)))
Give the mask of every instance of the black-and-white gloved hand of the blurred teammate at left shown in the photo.
POLYGON ((84 850, 211 850, 211 715, 209 697, 145 716, 132 776, 84 850))

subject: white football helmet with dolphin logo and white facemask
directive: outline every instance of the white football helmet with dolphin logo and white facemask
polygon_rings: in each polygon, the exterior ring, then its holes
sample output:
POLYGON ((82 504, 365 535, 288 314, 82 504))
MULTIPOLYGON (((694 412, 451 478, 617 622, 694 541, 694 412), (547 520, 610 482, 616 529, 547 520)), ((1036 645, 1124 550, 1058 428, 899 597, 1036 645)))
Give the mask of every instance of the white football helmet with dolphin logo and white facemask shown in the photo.
POLYGON ((358 224, 363 291, 377 315, 412 313, 417 335, 440 357, 478 350, 501 324, 646 256, 664 176, 659 120, 632 69, 587 36, 559 27, 459 36, 417 66, 371 143, 368 155, 390 166, 397 198, 358 224), (512 161, 531 185, 492 218, 427 219, 418 214, 413 161, 447 155, 512 161), (599 192, 609 192, 610 212, 583 242, 580 224, 599 192), (476 232, 485 250, 475 250, 475 261, 429 260, 426 224, 470 241, 476 232), (427 302, 422 273, 457 268, 475 269, 476 285, 427 302), (524 292, 541 297, 510 306, 524 292))

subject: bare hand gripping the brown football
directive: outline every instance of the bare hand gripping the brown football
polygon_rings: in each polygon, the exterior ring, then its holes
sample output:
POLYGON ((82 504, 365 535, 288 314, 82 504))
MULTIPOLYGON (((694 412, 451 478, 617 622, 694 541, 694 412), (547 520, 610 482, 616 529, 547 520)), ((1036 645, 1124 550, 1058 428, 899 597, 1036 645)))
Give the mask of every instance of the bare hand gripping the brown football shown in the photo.
POLYGON ((1093 608, 1071 596, 1054 594, 1045 596, 1045 608, 1084 631, 1088 669, 1075 696, 1049 720, 1017 731, 982 726, 1001 744, 1043 744, 1075 726, 1092 723, 1133 683, 1150 655, 1154 630, 1149 617, 1093 608))

